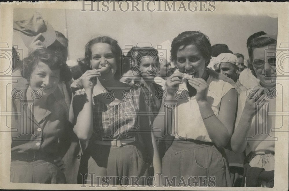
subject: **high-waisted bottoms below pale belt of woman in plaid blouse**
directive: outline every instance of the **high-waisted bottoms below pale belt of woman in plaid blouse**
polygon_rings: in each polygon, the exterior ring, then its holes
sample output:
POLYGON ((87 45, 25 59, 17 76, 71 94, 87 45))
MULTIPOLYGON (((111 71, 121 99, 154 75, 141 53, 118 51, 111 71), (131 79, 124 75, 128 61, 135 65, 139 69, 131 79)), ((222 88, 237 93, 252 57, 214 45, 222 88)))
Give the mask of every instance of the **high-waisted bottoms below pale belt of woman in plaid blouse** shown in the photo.
POLYGON ((148 185, 147 158, 139 141, 122 147, 89 143, 81 159, 78 184, 148 185))

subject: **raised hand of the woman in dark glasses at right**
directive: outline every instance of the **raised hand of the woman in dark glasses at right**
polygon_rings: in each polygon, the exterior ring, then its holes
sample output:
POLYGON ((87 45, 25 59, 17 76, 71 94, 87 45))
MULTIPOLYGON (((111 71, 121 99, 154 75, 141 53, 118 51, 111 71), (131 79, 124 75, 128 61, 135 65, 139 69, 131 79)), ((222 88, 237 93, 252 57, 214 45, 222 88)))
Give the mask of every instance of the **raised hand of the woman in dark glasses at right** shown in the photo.
POLYGON ((244 112, 250 116, 254 116, 255 112, 258 111, 265 103, 264 88, 259 85, 249 92, 249 96, 246 99, 244 112), (257 107, 258 106, 258 107, 257 107))

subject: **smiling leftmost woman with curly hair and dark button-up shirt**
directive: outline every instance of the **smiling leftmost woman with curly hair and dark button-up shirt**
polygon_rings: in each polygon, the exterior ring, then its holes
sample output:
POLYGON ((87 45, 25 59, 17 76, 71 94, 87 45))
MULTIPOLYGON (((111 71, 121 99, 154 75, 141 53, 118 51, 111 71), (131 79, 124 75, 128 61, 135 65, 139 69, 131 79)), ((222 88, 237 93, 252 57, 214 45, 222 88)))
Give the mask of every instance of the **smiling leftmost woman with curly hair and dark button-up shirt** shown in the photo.
POLYGON ((12 118, 10 181, 66 183, 60 159, 69 147, 66 135, 72 125, 65 102, 53 92, 59 82, 71 80, 69 68, 52 50, 35 50, 23 65, 28 84, 16 83, 12 90, 12 108, 19 115, 12 118))

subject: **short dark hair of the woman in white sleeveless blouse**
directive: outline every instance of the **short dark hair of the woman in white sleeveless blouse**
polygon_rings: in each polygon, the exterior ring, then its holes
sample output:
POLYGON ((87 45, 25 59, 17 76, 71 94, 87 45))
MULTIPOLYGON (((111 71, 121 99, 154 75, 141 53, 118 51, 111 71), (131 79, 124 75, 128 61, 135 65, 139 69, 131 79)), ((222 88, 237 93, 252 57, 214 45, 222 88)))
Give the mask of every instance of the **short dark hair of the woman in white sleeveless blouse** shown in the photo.
POLYGON ((208 60, 205 63, 205 67, 207 67, 212 57, 212 45, 209 38, 199 31, 185 31, 173 39, 171 46, 171 60, 173 62, 177 60, 177 51, 179 50, 179 47, 184 46, 182 48, 184 49, 186 46, 191 44, 196 46, 203 58, 208 60))

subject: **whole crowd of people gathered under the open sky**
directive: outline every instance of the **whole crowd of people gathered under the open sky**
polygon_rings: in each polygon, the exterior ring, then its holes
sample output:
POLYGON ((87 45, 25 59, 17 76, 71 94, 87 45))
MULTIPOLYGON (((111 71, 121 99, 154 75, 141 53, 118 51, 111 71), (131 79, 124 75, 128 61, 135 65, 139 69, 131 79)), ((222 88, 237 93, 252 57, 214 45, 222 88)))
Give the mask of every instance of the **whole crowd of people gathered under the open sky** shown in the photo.
POLYGON ((13 68, 22 77, 12 90, 21 116, 12 118, 11 182, 274 186, 276 56, 264 52, 276 51, 276 36, 252 34, 249 60, 200 31, 172 39, 168 58, 152 47, 124 54, 100 36, 69 67, 68 39, 53 31, 53 43, 42 41, 49 31, 34 30, 36 16, 13 25, 34 38, 13 68))

